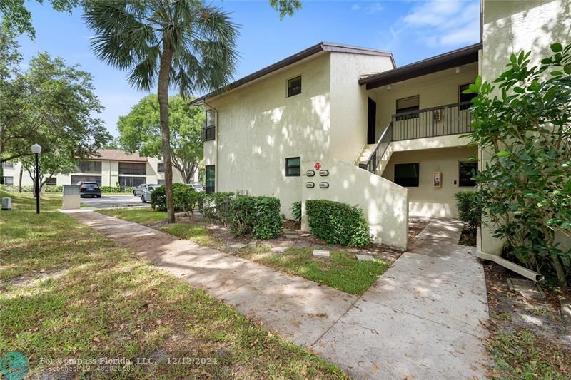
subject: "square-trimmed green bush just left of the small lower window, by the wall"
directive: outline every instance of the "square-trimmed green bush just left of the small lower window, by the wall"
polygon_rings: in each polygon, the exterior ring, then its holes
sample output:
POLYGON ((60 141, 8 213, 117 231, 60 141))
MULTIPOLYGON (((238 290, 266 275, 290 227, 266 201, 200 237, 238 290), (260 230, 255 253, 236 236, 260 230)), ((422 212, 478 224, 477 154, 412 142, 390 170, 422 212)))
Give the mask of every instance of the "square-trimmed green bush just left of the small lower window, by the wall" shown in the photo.
POLYGON ((281 235, 280 200, 276 197, 238 195, 230 203, 230 230, 261 240, 281 235))

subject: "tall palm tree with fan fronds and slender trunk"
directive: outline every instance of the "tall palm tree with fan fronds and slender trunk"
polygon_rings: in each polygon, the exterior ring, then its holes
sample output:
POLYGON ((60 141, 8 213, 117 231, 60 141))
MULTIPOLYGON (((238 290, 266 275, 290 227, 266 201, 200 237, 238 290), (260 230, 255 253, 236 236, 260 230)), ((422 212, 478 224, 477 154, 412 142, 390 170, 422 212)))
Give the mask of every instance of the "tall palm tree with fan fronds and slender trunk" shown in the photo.
POLYGON ((157 86, 165 163, 168 222, 174 222, 173 169, 168 128, 168 89, 189 98, 225 86, 238 53, 238 26, 202 0, 88 0, 91 48, 102 61, 128 70, 132 86, 157 86))

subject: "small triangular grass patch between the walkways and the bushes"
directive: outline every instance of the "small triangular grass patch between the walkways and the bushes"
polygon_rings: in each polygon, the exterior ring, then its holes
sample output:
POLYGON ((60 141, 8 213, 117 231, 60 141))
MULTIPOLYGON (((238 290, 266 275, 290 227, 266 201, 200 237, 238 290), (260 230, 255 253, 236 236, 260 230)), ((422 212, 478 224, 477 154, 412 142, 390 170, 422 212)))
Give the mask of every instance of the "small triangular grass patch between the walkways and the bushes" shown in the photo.
POLYGON ((330 251, 330 258, 315 258, 313 248, 289 247, 282 254, 260 254, 238 251, 238 256, 260 262, 283 272, 297 274, 345 293, 363 294, 390 264, 381 260, 359 261, 355 255, 330 251))

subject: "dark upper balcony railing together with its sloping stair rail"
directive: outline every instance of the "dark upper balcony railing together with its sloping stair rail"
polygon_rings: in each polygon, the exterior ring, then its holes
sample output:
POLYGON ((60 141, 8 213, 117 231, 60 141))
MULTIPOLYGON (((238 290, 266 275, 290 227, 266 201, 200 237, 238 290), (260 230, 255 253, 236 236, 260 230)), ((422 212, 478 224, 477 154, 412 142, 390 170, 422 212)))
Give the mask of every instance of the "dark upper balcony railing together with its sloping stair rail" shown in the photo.
POLYGON ((373 153, 360 168, 370 173, 377 171, 380 160, 393 141, 412 140, 445 135, 459 135, 472 132, 470 101, 448 104, 418 111, 396 113, 393 120, 380 136, 373 153))

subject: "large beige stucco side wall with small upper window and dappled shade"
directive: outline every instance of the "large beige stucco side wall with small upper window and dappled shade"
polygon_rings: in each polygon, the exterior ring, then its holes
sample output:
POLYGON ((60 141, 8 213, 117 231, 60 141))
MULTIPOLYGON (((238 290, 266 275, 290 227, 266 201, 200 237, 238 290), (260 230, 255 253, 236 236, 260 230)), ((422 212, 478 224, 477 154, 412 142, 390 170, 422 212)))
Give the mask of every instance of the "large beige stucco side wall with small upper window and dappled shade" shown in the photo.
POLYGON ((285 176, 285 158, 330 153, 329 73, 323 53, 208 101, 217 125, 216 143, 205 143, 205 165, 216 163, 216 191, 273 195, 291 215, 301 179, 285 176), (288 98, 287 81, 295 76, 302 76, 301 93, 288 98))

